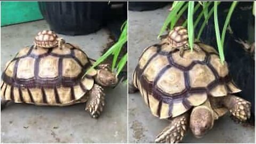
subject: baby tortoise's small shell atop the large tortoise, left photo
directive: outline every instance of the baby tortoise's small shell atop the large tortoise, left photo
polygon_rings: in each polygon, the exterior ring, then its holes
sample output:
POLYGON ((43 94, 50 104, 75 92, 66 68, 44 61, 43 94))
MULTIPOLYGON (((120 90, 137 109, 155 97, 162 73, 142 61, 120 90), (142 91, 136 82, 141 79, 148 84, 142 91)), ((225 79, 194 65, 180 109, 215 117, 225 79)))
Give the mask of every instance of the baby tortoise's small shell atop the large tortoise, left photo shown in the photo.
POLYGON ((58 36, 51 30, 43 30, 36 35, 34 43, 44 48, 55 47, 58 44, 58 36))

